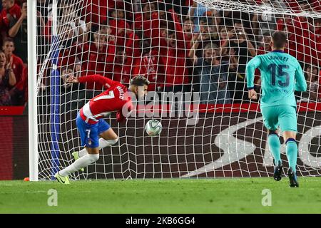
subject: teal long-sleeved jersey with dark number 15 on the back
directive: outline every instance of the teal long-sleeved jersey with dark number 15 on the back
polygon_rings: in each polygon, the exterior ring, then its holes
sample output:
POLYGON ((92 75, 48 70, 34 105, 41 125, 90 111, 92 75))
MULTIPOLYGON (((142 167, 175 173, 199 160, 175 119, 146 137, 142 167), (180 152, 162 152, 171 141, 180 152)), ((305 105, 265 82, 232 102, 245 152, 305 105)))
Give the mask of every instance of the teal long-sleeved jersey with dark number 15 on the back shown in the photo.
POLYGON ((261 108, 273 105, 296 107, 294 90, 307 89, 307 82, 296 58, 279 50, 255 56, 246 66, 248 89, 254 88, 255 68, 261 72, 261 108))

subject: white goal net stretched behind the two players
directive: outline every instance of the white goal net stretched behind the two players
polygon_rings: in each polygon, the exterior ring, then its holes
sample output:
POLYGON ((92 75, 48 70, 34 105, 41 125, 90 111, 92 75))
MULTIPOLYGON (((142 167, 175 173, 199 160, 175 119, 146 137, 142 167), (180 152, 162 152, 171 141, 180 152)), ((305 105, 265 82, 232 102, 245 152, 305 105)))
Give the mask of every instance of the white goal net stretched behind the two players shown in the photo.
MULTIPOLYGON (((35 1, 35 0, 29 0, 35 1)), ((245 66, 286 31, 286 52, 305 71, 297 98, 297 174, 321 173, 321 5, 317 0, 36 1, 39 180, 71 165, 82 149, 78 110, 101 93, 99 74, 128 85, 151 81, 146 100, 124 123, 105 120, 118 143, 74 179, 270 177, 273 161, 258 101, 248 100, 245 66), (149 137, 148 120, 163 130, 149 137)), ((35 90, 35 88, 29 88, 35 90)), ((260 95, 260 72, 255 73, 260 95)), ((282 137, 280 137, 281 142, 282 137)), ((285 146, 281 148, 287 166, 285 146)))

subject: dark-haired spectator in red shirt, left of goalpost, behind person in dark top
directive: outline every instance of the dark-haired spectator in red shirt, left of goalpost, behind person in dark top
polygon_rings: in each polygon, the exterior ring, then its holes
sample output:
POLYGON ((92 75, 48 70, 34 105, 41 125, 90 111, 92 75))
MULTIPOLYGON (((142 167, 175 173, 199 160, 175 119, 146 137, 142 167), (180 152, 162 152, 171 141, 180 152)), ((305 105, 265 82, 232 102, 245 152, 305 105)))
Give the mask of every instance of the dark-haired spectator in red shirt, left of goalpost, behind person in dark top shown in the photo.
POLYGON ((2 46, 2 50, 6 55, 6 61, 11 63, 11 68, 14 71, 14 75, 16 76, 16 82, 18 83, 22 79, 22 71, 24 70, 24 62, 18 56, 14 55, 14 40, 12 38, 4 39, 4 45, 2 46))

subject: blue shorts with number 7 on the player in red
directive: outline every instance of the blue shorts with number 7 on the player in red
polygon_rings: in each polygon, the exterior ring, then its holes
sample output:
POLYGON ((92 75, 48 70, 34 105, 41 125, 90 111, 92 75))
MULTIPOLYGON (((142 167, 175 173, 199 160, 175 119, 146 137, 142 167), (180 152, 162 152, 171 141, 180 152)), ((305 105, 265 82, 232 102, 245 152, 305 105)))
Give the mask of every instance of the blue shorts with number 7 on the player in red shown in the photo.
POLYGON ((86 123, 79 113, 77 114, 76 125, 81 135, 81 145, 91 148, 98 147, 99 135, 111 128, 103 119, 99 119, 96 124, 86 123))

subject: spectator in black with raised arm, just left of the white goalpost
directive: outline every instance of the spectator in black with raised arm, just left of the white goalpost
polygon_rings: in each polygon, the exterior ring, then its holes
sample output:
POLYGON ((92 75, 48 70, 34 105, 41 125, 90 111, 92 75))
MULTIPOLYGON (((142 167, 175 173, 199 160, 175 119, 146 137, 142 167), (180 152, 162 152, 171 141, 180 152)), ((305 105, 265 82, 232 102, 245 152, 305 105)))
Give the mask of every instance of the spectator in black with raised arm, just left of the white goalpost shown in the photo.
POLYGON ((28 59, 27 46, 27 3, 24 2, 21 8, 21 16, 19 19, 12 19, 9 25, 9 36, 14 38, 16 45, 16 55, 18 55, 24 63, 28 59))

